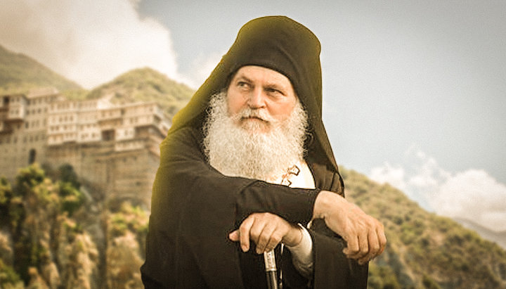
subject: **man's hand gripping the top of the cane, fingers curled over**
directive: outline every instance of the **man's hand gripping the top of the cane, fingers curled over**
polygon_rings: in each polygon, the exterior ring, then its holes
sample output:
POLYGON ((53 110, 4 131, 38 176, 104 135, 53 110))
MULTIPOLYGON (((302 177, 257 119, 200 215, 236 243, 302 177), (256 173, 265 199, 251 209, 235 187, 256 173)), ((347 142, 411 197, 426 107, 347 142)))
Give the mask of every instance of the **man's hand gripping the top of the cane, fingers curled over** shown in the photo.
POLYGON ((276 214, 253 213, 228 238, 234 242, 240 241, 243 252, 249 250, 251 239, 257 244, 257 253, 261 254, 273 250, 280 242, 289 246, 298 245, 302 231, 299 226, 288 223, 276 214))

